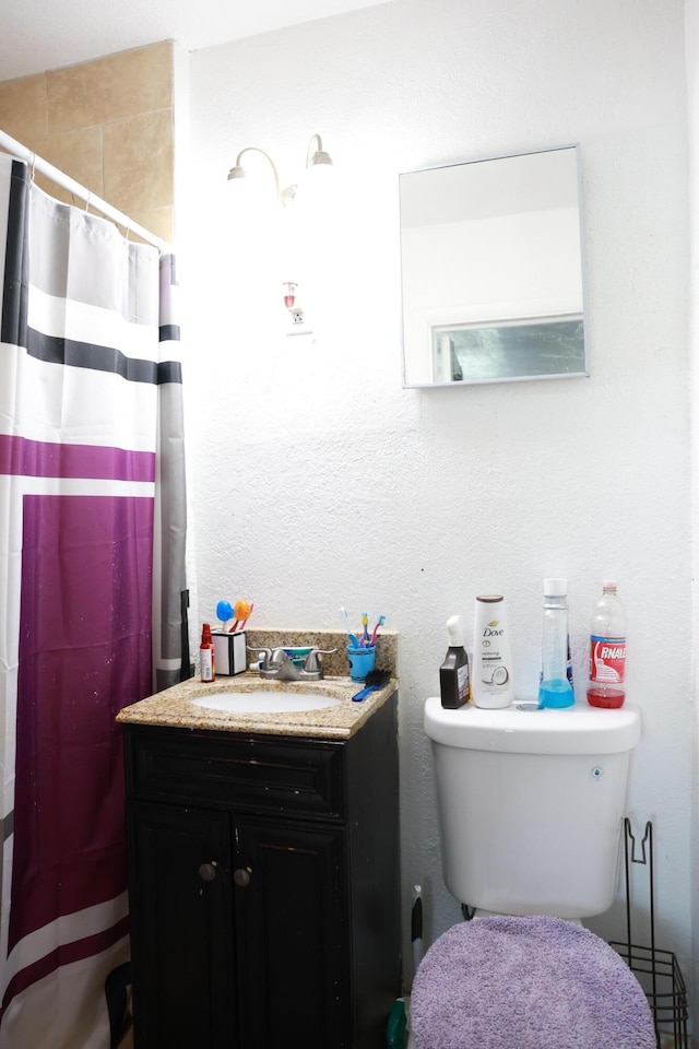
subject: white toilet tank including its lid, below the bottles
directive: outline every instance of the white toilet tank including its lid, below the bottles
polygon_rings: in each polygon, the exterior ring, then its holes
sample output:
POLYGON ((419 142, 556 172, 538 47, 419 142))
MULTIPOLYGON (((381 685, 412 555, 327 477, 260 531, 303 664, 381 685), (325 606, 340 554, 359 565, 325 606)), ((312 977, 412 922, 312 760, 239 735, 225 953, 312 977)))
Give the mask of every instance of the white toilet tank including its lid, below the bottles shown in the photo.
POLYGON ((462 904, 585 918, 616 895, 638 709, 425 704, 443 877, 462 904))

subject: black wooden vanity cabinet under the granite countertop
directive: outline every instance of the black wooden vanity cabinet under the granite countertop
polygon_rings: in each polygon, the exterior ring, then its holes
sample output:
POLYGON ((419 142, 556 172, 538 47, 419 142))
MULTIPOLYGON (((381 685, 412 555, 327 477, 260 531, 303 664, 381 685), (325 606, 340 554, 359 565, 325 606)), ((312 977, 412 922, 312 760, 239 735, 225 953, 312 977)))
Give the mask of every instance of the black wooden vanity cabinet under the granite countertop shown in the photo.
POLYGON ((344 741, 122 728, 134 1049, 383 1049, 395 695, 344 741))

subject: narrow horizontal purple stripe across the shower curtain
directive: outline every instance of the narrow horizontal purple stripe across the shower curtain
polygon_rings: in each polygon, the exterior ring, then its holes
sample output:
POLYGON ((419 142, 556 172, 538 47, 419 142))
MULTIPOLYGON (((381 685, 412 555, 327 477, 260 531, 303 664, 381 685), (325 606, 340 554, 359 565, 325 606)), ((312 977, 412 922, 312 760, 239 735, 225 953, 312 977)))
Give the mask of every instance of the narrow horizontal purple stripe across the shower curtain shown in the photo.
POLYGON ((0 474, 154 481, 155 452, 97 445, 61 445, 0 434, 0 474))

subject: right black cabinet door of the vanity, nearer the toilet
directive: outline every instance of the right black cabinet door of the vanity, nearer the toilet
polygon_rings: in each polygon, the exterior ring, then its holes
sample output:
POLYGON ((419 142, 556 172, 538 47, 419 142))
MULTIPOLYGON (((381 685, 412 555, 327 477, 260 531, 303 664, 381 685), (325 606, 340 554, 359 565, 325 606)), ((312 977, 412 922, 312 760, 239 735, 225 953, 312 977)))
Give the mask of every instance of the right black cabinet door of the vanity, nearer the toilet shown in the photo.
POLYGON ((352 1044, 345 832, 236 818, 239 1049, 352 1044))

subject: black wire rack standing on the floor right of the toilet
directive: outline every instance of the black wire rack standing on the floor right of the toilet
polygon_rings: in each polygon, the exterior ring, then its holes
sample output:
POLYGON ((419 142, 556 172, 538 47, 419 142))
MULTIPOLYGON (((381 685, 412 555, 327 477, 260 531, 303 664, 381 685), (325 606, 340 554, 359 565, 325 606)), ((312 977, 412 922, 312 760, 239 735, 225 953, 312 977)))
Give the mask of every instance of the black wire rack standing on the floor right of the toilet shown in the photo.
POLYGON ((649 821, 640 845, 641 856, 636 856, 636 838, 631 823, 624 821, 624 860, 626 873, 626 942, 611 941, 625 959, 643 988, 648 1004, 655 1023, 657 1046, 674 1046, 674 1049, 689 1049, 687 1037, 687 988, 683 979, 677 958, 672 951, 661 951, 655 946, 655 908, 653 900, 653 825, 649 821), (631 887, 630 864, 641 863, 648 867, 650 901, 650 945, 633 943, 631 935, 631 887), (661 1042, 662 1038, 662 1042, 661 1042), (674 1040, 673 1040, 674 1039, 674 1040))

